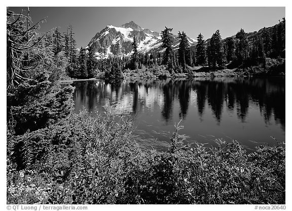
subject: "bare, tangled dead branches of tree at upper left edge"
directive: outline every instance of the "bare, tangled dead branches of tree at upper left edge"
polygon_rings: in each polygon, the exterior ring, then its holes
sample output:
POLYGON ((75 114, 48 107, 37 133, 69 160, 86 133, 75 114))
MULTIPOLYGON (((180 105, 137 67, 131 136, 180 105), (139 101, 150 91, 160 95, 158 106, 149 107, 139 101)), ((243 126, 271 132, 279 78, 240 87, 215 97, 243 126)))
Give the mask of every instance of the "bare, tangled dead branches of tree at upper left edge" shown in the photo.
POLYGON ((43 59, 38 46, 43 37, 36 38, 36 30, 45 18, 32 25, 29 15, 16 14, 7 11, 7 90, 17 87, 20 81, 28 80, 27 72, 34 69, 33 65, 28 65, 36 58, 43 59), (26 23, 26 24, 25 24, 26 23), (32 26, 30 26, 32 25, 32 26), (26 26, 26 28, 25 28, 26 26))

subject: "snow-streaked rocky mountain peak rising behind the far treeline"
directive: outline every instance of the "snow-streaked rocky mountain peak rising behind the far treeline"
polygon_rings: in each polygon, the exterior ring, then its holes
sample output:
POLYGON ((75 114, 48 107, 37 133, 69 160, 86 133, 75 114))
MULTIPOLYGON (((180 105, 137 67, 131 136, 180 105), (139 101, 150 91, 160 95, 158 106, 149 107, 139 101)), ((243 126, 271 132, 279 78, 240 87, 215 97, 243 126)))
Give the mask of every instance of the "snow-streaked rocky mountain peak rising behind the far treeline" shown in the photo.
MULTIPOLYGON (((138 52, 163 52, 165 50, 161 47, 162 41, 158 32, 142 28, 133 21, 120 27, 107 25, 91 39, 88 46, 93 48, 97 58, 130 55, 134 36, 138 43, 138 52)), ((191 46, 196 45, 195 39, 188 37, 188 41, 191 46)), ((175 50, 178 49, 178 44, 178 37, 173 35, 173 47, 175 50)))

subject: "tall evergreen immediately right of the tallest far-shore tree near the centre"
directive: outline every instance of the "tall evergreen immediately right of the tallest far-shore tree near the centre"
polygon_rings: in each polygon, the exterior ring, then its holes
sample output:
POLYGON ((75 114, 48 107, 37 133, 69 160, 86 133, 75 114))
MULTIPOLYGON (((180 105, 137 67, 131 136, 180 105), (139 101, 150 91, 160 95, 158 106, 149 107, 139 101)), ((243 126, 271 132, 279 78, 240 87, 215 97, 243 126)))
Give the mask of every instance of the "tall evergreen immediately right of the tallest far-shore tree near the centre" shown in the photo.
POLYGON ((191 66, 190 44, 184 31, 182 31, 182 33, 178 32, 178 38, 180 39, 178 48, 178 63, 182 69, 185 70, 186 64, 191 66))

